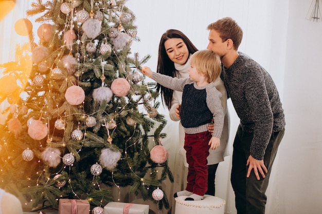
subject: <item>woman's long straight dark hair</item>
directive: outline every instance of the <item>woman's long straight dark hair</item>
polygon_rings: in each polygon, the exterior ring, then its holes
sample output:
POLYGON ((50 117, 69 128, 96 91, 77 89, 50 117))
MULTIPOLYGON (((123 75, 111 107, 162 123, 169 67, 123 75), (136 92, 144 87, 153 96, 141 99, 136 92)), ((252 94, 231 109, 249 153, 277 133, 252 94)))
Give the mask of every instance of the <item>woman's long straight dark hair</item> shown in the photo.
MULTIPOLYGON (((165 42, 169 38, 181 38, 183 42, 186 44, 190 54, 193 54, 194 52, 198 51, 198 49, 192 44, 189 38, 179 30, 169 29, 164 34, 162 34, 159 43, 156 72, 173 77, 175 76, 176 70, 174 68, 174 63, 169 59, 169 56, 165 48, 165 42)), ((164 102, 168 109, 170 109, 173 90, 165 88, 159 84, 157 84, 156 89, 161 92, 161 95, 163 97, 162 102, 164 102)))

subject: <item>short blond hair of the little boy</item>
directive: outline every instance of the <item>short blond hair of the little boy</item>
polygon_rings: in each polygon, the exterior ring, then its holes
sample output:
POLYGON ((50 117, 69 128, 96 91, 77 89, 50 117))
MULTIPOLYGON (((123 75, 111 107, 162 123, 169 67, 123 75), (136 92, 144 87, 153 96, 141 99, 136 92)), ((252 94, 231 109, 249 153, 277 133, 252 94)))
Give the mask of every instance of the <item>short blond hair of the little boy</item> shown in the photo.
POLYGON ((217 80, 221 72, 220 57, 212 50, 199 50, 192 54, 190 64, 205 75, 208 83, 217 80))

